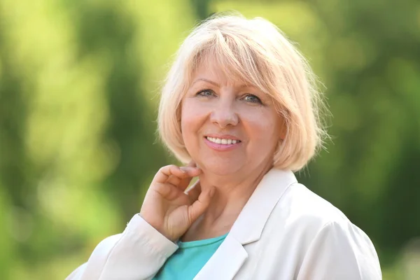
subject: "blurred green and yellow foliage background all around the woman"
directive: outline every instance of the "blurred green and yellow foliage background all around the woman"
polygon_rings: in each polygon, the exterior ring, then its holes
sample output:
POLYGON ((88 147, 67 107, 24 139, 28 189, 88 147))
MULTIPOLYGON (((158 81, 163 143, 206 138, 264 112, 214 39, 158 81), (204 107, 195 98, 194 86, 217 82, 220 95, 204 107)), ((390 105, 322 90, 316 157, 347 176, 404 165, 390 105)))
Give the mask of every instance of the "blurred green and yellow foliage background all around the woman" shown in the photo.
POLYGON ((420 275, 419 1, 0 0, 0 279, 64 279, 125 228, 176 162, 155 134, 172 54, 232 9, 325 84, 332 141, 300 180, 371 237, 384 279, 420 275))

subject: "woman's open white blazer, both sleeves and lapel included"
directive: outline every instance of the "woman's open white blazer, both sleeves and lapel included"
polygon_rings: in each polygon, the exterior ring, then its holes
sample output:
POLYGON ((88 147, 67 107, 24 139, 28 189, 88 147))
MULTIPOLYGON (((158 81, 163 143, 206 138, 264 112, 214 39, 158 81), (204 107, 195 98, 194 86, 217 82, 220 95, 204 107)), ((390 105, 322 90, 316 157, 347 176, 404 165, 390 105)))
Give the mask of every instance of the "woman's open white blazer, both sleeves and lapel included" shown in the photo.
MULTIPOLYGON (((104 239, 66 280, 152 279, 177 249, 138 214, 125 231, 104 239)), ((225 241, 195 280, 378 280, 372 242, 341 211, 297 183, 293 172, 270 170, 225 241)))

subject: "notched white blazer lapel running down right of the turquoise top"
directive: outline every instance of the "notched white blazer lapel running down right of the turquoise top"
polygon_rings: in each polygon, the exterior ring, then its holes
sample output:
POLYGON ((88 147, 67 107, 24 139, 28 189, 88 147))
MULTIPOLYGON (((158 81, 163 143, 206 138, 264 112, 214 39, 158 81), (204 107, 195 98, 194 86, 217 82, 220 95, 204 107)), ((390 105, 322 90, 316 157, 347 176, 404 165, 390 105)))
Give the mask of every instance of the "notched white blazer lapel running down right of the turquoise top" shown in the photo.
POLYGON ((248 258, 244 245, 260 239, 277 202, 287 188, 296 182, 293 172, 279 169, 267 172, 232 225, 225 241, 194 279, 233 279, 248 258))

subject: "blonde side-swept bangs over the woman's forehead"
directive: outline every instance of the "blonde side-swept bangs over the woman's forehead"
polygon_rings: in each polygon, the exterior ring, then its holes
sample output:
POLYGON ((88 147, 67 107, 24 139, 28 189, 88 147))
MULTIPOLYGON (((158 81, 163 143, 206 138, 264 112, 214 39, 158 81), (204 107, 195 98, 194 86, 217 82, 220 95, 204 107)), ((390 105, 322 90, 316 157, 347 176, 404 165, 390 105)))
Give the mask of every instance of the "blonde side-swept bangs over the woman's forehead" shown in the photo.
POLYGON ((272 96, 270 85, 274 80, 270 79, 272 74, 269 72, 272 71, 268 71, 267 59, 263 59, 255 48, 241 38, 221 34, 220 31, 215 33, 211 40, 197 47, 190 76, 196 73, 200 65, 212 65, 223 71, 232 82, 257 87, 272 96))

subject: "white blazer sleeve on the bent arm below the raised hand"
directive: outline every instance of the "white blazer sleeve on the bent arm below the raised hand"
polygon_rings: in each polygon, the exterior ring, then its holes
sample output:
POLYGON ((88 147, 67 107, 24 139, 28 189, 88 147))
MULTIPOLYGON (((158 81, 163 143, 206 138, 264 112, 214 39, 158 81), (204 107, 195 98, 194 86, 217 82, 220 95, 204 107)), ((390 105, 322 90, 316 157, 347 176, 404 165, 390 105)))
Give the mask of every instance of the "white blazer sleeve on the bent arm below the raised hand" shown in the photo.
POLYGON ((101 241, 66 280, 152 279, 177 248, 137 214, 123 233, 101 241))

